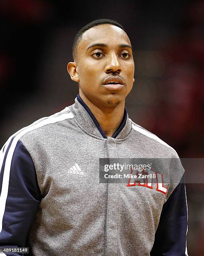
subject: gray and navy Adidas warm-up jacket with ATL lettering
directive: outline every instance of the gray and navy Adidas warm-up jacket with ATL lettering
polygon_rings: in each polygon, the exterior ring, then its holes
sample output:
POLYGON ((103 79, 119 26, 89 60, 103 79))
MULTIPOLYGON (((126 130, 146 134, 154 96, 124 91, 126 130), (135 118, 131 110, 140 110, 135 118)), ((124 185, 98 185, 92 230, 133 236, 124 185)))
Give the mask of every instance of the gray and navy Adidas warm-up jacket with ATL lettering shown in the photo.
POLYGON ((126 108, 107 138, 78 95, 0 151, 0 248, 27 246, 33 256, 187 255, 184 173, 179 184, 160 187, 100 183, 101 158, 178 155, 126 108))

